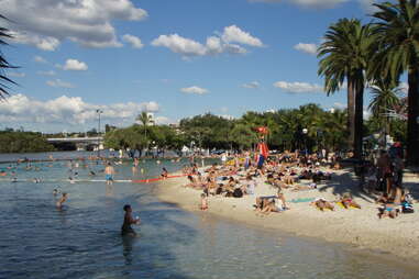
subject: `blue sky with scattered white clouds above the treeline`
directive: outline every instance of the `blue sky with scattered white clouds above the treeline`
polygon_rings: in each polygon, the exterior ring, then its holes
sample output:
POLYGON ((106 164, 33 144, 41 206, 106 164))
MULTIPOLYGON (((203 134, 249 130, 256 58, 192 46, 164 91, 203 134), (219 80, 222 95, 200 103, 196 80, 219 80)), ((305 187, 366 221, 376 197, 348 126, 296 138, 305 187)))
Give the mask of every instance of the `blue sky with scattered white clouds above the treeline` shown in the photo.
MULTIPOLYGON (((240 118, 327 97, 316 49, 341 18, 371 21, 373 0, 0 0, 19 83, 0 130, 85 132, 213 113, 240 118)), ((366 100, 368 97, 366 96, 366 100)), ((367 103, 367 101, 366 101, 367 103)))

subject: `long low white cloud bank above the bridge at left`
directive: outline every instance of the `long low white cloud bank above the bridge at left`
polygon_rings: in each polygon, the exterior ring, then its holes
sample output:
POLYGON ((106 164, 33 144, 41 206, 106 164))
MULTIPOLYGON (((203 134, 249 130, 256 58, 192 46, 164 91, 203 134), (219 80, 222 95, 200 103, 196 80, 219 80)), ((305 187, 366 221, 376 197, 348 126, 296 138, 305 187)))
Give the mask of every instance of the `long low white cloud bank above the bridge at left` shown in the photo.
MULTIPOLYGON (((159 105, 156 102, 126 102, 113 104, 92 104, 85 102, 81 97, 62 96, 56 99, 40 101, 30 99, 27 96, 18 93, 0 102, 0 121, 9 123, 62 123, 77 125, 97 121, 96 110, 103 111, 101 114, 104 122, 119 123, 126 121, 133 123, 141 111, 157 112, 159 105)), ((158 119, 163 122, 165 119, 158 119)))

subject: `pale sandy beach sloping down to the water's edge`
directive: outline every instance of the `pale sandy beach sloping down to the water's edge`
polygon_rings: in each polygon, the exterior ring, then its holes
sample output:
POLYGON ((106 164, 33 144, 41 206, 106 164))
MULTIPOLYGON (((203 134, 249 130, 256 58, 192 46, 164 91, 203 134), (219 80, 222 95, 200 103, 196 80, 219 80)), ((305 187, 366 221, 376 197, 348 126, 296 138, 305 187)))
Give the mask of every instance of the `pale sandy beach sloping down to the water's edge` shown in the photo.
MULTIPOLYGON (((328 242, 344 243, 351 247, 366 250, 377 250, 397 256, 398 259, 419 259, 419 215, 418 209, 411 214, 400 214, 396 219, 377 216, 379 204, 372 196, 357 189, 354 175, 348 170, 332 172, 332 180, 318 185, 318 189, 293 192, 285 190, 290 210, 280 213, 263 215, 254 211, 253 204, 258 196, 272 196, 276 190, 256 179, 254 196, 240 199, 209 197, 209 210, 203 214, 245 222, 261 228, 275 228, 296 235, 318 237, 328 242), (324 198, 334 201, 339 194, 350 191, 354 200, 362 207, 345 210, 335 205, 335 211, 324 211, 310 205, 310 202, 293 202, 298 199, 324 198)), ((405 174, 404 183, 417 199, 418 176, 405 174)), ((159 183, 158 198, 166 202, 178 204, 188 211, 198 211, 201 191, 185 188, 186 178, 168 179, 159 183)), ((302 180, 300 185, 308 185, 302 180)), ((417 202, 417 200, 416 200, 417 202)), ((415 203, 416 204, 416 203, 415 203)), ((414 207, 416 207, 414 204, 414 207)))

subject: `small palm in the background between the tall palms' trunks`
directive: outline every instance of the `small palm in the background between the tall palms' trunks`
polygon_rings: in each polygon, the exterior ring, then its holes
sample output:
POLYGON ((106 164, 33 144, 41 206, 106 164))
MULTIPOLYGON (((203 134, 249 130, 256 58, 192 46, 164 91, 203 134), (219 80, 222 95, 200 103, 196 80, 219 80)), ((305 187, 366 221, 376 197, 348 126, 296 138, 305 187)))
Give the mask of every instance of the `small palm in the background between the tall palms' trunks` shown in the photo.
POLYGON ((397 87, 394 82, 378 79, 371 86, 372 100, 368 109, 373 112, 374 118, 379 122, 385 134, 389 134, 390 118, 388 113, 400 105, 399 96, 403 89, 397 87))

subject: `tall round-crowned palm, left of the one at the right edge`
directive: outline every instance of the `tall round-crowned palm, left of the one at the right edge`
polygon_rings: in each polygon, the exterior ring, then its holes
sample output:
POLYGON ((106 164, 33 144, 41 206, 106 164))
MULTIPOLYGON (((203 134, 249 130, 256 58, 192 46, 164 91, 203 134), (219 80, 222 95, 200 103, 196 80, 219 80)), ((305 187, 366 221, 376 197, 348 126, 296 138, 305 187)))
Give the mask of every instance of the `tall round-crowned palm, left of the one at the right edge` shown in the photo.
POLYGON ((324 77, 324 91, 339 91, 348 82, 348 130, 355 158, 362 156, 363 93, 366 83, 371 47, 374 44, 371 26, 355 19, 341 19, 332 24, 318 49, 320 76, 324 77))

